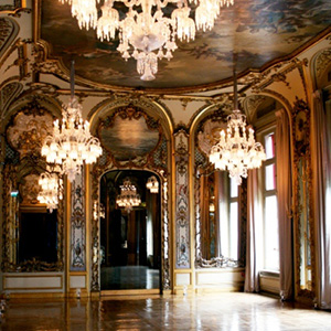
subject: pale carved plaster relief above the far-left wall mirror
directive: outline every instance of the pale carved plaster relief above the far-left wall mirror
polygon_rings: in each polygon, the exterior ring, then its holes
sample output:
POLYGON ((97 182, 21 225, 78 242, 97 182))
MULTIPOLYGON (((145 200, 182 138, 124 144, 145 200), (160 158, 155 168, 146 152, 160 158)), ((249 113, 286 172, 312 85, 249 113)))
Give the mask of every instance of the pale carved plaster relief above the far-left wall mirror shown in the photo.
POLYGON ((26 154, 40 153, 44 139, 52 132, 53 118, 50 114, 34 116, 19 113, 13 126, 8 128, 8 140, 23 158, 26 154))

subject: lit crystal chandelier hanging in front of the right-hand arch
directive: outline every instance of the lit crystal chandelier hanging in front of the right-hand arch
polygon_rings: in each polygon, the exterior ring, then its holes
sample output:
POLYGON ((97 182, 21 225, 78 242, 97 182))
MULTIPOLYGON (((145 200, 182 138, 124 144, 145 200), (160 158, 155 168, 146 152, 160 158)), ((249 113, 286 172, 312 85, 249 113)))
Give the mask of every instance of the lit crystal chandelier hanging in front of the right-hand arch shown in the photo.
POLYGON ((242 178, 247 178, 249 169, 259 168, 266 160, 264 147, 254 139, 254 130, 246 128, 246 116, 241 114, 237 105, 237 82, 234 73, 234 110, 227 117, 227 130, 221 131, 220 141, 210 152, 210 161, 215 169, 228 170, 229 177, 236 183, 242 183, 242 178))

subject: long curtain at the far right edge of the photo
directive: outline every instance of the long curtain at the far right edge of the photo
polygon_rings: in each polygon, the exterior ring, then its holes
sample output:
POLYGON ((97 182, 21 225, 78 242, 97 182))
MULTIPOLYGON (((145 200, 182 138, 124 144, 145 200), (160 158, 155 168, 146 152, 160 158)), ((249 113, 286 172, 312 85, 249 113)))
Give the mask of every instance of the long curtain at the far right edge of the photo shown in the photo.
POLYGON ((312 171, 318 248, 318 305, 331 309, 331 107, 323 109, 321 92, 313 94, 312 171))

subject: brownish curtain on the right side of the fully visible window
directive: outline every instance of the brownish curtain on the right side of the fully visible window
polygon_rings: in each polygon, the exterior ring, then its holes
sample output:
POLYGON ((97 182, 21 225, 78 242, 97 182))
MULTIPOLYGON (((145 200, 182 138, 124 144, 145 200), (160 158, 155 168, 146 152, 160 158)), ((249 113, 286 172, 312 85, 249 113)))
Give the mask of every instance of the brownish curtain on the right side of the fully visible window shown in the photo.
POLYGON ((279 222, 280 297, 292 296, 291 157, 290 125, 285 109, 276 111, 276 167, 279 222))

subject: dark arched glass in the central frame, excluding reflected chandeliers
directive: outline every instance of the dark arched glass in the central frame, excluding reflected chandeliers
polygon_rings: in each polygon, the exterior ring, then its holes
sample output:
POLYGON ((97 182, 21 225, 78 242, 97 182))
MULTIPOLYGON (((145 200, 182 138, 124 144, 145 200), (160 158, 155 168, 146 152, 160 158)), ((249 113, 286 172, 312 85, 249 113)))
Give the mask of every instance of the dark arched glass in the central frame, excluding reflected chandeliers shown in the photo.
POLYGON ((149 171, 116 170, 102 178, 102 290, 160 289, 160 193, 147 189, 151 177, 156 178, 149 171), (132 207, 116 202, 126 181, 141 200, 132 207))

